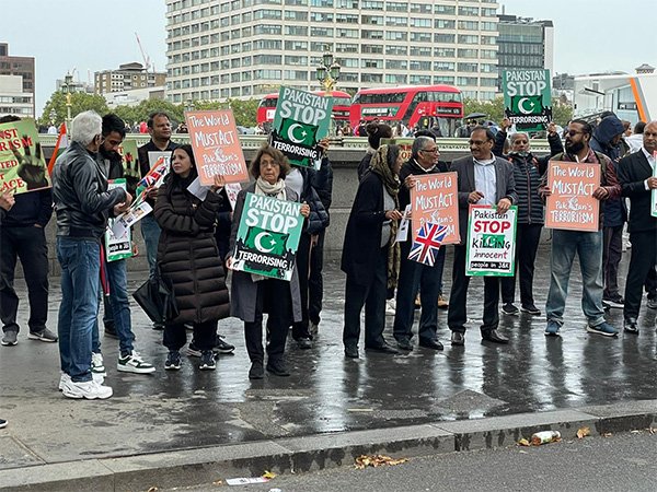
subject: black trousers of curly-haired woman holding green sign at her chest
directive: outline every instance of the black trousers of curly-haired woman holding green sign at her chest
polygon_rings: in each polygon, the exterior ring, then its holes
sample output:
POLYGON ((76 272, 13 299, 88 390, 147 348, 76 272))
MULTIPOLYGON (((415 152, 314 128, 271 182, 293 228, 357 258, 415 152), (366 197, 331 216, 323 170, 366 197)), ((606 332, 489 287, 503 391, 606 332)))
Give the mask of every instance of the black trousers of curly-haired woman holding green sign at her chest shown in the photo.
POLYGON ((265 356, 263 348, 263 313, 267 313, 267 356, 269 361, 280 360, 285 353, 287 332, 292 320, 292 298, 290 283, 285 280, 267 279, 257 282, 255 300, 255 320, 244 323, 246 352, 253 363, 262 364, 265 356))

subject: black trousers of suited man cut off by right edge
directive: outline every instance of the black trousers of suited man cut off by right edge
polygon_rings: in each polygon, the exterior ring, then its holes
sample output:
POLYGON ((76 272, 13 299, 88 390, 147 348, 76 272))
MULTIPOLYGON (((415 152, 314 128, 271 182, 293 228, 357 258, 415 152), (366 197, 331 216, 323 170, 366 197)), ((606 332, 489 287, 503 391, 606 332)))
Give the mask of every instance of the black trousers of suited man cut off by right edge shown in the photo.
POLYGON ((654 270, 657 263, 657 232, 631 233, 630 242, 632 243, 632 256, 627 269, 627 281, 625 282, 623 316, 625 319, 636 319, 641 308, 644 284, 650 270, 654 270))

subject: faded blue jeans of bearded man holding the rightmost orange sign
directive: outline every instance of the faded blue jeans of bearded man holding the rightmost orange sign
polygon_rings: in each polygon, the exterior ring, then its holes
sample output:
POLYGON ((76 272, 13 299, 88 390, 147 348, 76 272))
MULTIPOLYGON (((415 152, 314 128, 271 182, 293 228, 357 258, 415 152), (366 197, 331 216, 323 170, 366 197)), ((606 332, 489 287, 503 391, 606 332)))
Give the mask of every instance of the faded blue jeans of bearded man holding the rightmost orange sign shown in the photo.
POLYGON ((579 257, 581 270, 581 311, 590 326, 604 323, 602 307, 602 231, 552 232, 552 255, 550 257, 550 292, 545 303, 549 321, 564 324, 564 311, 568 295, 568 280, 575 254, 579 257))

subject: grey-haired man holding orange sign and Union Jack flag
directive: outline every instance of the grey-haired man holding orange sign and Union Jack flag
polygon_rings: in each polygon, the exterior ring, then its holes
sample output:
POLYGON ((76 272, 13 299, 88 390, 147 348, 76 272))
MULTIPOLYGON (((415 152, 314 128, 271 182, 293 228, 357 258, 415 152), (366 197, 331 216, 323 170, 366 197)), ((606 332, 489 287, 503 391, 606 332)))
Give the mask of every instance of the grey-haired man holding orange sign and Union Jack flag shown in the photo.
MULTIPOLYGON (((400 210, 411 203, 411 189, 418 176, 426 176, 447 171, 447 164, 440 163, 440 152, 436 140, 420 136, 413 142, 411 160, 402 166, 399 191, 400 210)), ((411 222, 411 230, 417 231, 419 221, 411 222)), ((418 344, 433 350, 442 350, 438 340, 438 298, 442 295, 442 269, 445 267, 445 247, 438 250, 433 266, 408 259, 412 238, 401 244, 400 278, 396 292, 396 311, 394 315, 393 335, 401 350, 413 350, 413 319, 415 296, 419 289, 422 315, 418 327, 418 344)))

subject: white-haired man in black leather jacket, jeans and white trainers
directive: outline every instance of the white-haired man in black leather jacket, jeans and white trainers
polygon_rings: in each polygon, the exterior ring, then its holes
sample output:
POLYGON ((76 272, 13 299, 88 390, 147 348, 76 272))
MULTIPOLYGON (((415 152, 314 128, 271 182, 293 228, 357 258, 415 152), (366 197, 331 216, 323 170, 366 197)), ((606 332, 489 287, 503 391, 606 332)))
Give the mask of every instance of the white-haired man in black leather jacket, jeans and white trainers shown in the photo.
POLYGON ((76 116, 71 144, 55 163, 53 196, 57 215, 57 259, 61 265, 59 305, 59 389, 68 398, 110 398, 112 388, 91 373, 92 329, 97 316, 101 238, 111 212, 128 209, 132 197, 122 188, 107 190, 96 162, 103 143, 102 119, 95 112, 76 116))

